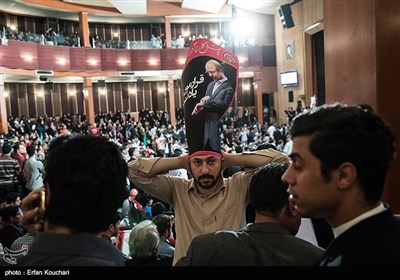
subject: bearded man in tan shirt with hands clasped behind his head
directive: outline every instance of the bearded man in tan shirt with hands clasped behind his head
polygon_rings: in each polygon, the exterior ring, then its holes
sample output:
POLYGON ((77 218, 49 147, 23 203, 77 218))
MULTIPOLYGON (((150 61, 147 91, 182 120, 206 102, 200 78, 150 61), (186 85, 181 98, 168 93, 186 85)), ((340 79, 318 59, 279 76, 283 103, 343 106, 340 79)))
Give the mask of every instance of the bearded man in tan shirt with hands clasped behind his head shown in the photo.
POLYGON ((146 193, 171 205, 175 211, 174 263, 186 254, 192 239, 217 230, 238 230, 246 225, 249 181, 257 167, 287 156, 268 149, 253 154, 197 151, 175 158, 139 158, 130 162, 129 179, 146 193), (230 166, 252 168, 229 178, 221 172, 230 166), (190 170, 188 180, 165 175, 172 169, 190 170))

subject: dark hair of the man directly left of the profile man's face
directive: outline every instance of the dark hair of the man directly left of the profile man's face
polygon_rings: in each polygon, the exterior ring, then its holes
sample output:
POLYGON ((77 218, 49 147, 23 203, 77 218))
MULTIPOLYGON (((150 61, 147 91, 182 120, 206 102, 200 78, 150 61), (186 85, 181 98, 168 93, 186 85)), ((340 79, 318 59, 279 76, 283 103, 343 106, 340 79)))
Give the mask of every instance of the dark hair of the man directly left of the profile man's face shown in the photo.
POLYGON ((269 163, 254 172, 249 192, 250 205, 256 212, 278 213, 288 204, 288 184, 281 179, 288 166, 288 163, 269 163))

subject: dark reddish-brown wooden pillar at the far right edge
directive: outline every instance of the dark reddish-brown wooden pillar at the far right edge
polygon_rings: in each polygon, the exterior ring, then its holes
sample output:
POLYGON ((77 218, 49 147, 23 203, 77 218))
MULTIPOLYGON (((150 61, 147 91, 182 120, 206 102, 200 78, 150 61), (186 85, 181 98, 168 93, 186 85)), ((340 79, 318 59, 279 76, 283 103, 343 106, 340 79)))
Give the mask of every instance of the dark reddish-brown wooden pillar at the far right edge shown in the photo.
POLYGON ((399 15, 397 1, 375 1, 376 3, 376 46, 377 46, 377 99, 378 113, 390 123, 396 135, 397 156, 393 161, 383 194, 383 201, 389 203, 394 213, 400 213, 400 79, 399 79, 399 15), (394 34, 397 34, 394 36, 394 34), (396 58, 397 59, 394 59, 396 58))

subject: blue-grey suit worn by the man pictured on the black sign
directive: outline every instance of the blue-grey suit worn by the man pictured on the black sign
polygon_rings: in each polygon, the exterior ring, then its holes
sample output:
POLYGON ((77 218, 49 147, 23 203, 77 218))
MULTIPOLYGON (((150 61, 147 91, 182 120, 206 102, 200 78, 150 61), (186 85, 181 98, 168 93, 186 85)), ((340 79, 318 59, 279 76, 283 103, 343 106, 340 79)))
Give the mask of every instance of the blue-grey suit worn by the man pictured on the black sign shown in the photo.
POLYGON ((210 99, 204 102, 204 145, 210 142, 213 151, 220 151, 220 136, 218 122, 224 115, 233 99, 233 88, 228 80, 225 80, 212 94, 216 81, 209 83, 205 96, 210 99))

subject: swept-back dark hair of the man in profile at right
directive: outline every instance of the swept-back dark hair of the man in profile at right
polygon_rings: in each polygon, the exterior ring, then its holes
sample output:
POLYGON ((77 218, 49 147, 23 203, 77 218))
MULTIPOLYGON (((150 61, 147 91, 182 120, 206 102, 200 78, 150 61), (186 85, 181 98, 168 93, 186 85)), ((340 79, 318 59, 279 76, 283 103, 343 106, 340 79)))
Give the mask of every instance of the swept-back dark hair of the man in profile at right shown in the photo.
POLYGON ((344 162, 357 169, 366 199, 380 200, 394 157, 395 136, 369 105, 323 105, 293 119, 292 138, 312 136, 310 152, 321 161, 325 180, 344 162))

